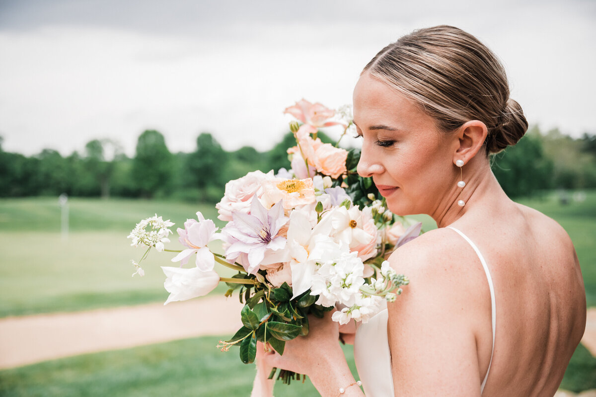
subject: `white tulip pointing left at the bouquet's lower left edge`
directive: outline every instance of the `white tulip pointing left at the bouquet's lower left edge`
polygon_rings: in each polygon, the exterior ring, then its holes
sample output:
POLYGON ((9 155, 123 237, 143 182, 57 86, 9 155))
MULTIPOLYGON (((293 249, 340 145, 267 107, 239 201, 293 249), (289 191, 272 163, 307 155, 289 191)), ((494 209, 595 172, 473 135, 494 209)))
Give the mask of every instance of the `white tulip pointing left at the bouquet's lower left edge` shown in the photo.
POLYGON ((188 300, 203 296, 215 289, 219 283, 219 274, 215 271, 201 271, 194 268, 173 268, 162 266, 166 275, 163 286, 170 293, 164 305, 176 300, 188 300))

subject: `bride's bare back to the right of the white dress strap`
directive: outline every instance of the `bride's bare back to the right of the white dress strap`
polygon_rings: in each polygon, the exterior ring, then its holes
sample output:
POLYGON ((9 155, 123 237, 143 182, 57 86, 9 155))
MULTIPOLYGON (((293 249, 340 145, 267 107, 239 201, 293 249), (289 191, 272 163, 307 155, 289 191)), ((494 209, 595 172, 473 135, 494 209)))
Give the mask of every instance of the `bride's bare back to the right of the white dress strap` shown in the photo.
POLYGON ((496 221, 506 232, 470 233, 495 282, 498 326, 484 395, 554 395, 585 329, 583 279, 563 228, 514 205, 496 221))

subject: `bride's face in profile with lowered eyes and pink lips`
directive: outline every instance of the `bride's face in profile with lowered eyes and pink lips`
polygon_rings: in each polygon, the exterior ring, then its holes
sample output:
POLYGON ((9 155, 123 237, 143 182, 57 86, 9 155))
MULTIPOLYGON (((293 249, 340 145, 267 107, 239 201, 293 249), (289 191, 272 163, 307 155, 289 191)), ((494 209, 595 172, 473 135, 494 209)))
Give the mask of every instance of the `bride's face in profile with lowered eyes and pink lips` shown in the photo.
POLYGON ((398 215, 440 212, 452 190, 458 139, 386 83, 364 73, 354 89, 354 123, 362 136, 361 176, 372 176, 398 215))

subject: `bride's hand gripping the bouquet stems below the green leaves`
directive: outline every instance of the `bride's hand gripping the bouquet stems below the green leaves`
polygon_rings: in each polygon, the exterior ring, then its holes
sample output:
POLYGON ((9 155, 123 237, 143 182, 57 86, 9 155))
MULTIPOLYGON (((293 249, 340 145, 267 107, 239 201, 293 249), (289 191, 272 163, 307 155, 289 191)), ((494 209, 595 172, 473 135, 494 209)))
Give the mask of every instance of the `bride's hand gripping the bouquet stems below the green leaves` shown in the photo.
MULTIPOLYGON (((263 353, 263 365, 268 368, 283 368, 312 378, 313 374, 325 371, 333 362, 345 362, 338 342, 339 327, 337 322, 331 320, 331 314, 332 312, 327 312, 323 318, 309 316, 308 336, 299 336, 285 342, 284 354, 281 356, 269 348, 269 352, 263 353)), ((260 348, 263 346, 260 345, 260 348)))

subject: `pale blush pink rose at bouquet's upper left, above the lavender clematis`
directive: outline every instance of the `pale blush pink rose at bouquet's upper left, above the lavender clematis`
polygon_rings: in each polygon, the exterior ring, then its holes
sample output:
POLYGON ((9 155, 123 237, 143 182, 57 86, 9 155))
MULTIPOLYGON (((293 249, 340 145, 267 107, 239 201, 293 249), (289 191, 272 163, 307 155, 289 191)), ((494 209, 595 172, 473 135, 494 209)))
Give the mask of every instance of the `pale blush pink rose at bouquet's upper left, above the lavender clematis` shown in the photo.
POLYGON ((226 183, 224 197, 215 205, 218 219, 229 222, 232 212, 249 213, 253 196, 259 197, 263 193, 262 182, 272 178, 275 178, 273 170, 268 173, 257 170, 226 183))

